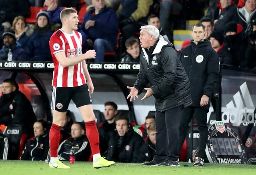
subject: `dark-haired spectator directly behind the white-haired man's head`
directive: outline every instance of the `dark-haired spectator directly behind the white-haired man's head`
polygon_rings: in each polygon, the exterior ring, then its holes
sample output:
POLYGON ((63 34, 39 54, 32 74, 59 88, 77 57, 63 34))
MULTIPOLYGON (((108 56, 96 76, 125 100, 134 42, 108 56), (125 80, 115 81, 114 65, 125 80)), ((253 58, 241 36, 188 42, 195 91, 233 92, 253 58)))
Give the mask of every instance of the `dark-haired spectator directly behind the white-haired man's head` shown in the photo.
POLYGON ((159 34, 162 35, 166 41, 171 42, 173 44, 172 36, 160 27, 160 20, 156 15, 152 14, 148 17, 148 25, 155 26, 156 28, 158 28, 159 34))

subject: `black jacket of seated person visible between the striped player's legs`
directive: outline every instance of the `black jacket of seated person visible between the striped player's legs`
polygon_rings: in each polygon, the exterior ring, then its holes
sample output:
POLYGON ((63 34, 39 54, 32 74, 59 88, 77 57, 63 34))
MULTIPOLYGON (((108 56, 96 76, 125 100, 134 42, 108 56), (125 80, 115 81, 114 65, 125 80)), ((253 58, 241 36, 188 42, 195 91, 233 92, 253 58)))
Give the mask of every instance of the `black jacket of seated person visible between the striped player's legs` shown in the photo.
POLYGON ((74 147, 76 161, 88 161, 91 147, 86 135, 83 135, 76 140, 73 138, 64 140, 58 148, 58 158, 60 160, 68 161, 72 146, 74 147))

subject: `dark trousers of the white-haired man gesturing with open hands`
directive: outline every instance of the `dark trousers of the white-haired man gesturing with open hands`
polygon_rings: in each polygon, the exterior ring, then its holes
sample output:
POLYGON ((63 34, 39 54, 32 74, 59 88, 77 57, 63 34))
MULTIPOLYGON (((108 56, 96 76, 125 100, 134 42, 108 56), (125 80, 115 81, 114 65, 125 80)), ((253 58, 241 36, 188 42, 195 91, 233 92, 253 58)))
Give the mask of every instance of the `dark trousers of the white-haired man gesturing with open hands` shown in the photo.
POLYGON ((154 160, 178 160, 178 140, 180 118, 183 105, 160 112, 156 110, 156 152, 154 160))

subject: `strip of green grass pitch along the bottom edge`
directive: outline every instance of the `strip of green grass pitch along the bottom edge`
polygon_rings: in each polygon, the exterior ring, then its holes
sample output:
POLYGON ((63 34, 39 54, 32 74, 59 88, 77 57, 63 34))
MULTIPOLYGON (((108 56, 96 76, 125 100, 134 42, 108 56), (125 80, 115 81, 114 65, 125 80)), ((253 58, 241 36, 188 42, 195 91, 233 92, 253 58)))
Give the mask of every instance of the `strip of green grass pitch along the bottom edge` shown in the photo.
POLYGON ((94 169, 92 162, 75 162, 70 167, 50 169, 44 161, 1 160, 0 175, 256 175, 256 165, 234 164, 206 163, 204 167, 192 167, 192 163, 180 162, 180 167, 148 167, 141 163, 116 163, 94 169), (184 167, 185 164, 189 167, 184 167))

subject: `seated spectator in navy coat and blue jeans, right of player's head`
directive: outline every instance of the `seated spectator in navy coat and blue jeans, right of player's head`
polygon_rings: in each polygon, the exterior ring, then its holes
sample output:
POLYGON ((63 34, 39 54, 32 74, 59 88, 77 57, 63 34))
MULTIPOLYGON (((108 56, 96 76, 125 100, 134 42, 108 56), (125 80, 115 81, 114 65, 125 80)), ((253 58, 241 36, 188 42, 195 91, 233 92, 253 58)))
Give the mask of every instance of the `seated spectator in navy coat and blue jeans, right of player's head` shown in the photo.
POLYGON ((105 0, 92 0, 84 15, 82 29, 87 35, 88 45, 96 51, 95 62, 104 61, 104 53, 115 51, 118 32, 116 12, 105 0))

